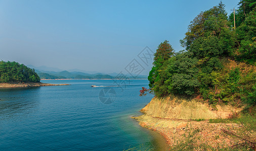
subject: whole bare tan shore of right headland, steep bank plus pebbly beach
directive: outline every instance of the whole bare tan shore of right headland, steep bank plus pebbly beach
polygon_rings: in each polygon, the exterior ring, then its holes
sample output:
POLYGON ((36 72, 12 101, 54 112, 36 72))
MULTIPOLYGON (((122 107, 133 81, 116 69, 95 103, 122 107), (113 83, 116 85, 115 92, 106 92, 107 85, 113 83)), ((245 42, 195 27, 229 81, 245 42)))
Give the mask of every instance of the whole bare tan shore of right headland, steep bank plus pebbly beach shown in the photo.
MULTIPOLYGON (((218 116, 227 118, 227 115, 230 114, 227 114, 225 110, 217 112, 218 116)), ((198 146, 207 145, 212 148, 230 147, 239 140, 227 135, 225 131, 232 130, 236 132, 242 128, 238 123, 211 123, 210 120, 199 119, 200 115, 205 117, 210 112, 212 112, 212 115, 216 113, 206 110, 204 104, 193 103, 193 101, 185 103, 184 100, 153 98, 141 112, 144 114, 132 118, 136 119, 142 127, 160 133, 170 147, 187 142, 193 142, 198 146), (189 106, 192 108, 190 111, 189 106), (187 111, 184 112, 184 110, 187 111)), ((232 110, 229 113, 231 112, 232 110)))

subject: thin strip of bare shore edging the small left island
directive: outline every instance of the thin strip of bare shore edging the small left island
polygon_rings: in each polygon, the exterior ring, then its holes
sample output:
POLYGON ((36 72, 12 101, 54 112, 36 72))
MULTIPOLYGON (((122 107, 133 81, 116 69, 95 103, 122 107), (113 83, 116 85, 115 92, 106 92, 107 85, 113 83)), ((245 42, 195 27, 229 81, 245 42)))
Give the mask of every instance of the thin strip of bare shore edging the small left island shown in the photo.
POLYGON ((22 88, 22 87, 43 87, 43 86, 67 86, 68 84, 45 84, 45 83, 0 83, 0 88, 22 88))

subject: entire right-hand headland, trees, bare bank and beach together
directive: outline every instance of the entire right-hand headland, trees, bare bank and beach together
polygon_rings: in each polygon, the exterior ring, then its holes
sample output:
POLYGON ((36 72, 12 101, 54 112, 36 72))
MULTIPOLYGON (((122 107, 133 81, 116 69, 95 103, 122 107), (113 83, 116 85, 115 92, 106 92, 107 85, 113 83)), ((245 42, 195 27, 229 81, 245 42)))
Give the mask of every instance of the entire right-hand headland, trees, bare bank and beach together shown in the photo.
POLYGON ((149 72, 155 97, 140 125, 160 132, 173 150, 256 149, 256 2, 227 16, 221 2, 201 12, 175 52, 159 44, 149 72))

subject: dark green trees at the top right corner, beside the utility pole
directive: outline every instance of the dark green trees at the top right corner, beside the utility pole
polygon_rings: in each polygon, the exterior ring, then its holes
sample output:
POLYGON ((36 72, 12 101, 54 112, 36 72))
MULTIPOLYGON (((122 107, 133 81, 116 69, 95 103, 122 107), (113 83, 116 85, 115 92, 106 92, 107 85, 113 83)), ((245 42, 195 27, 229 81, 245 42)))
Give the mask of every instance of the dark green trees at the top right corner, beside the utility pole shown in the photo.
MULTIPOLYGON (((243 0, 239 2, 239 9, 235 13, 237 34, 237 49, 235 58, 250 64, 256 62, 256 2, 255 0, 243 0)), ((229 21, 234 25, 234 14, 229 21)))

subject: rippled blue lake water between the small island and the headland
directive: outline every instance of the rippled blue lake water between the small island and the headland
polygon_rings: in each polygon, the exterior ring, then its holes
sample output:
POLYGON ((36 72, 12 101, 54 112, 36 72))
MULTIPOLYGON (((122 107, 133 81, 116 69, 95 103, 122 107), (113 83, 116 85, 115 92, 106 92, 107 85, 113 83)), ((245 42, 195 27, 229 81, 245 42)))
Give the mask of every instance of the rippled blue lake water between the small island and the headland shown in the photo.
MULTIPOLYGON (((46 80, 70 84, 0 89, 0 150, 161 150, 163 138, 131 116, 153 98, 139 96, 147 80, 46 80), (135 149, 136 150, 136 149, 135 149)), ((163 145, 163 146, 162 146, 163 145)))

